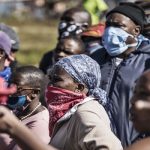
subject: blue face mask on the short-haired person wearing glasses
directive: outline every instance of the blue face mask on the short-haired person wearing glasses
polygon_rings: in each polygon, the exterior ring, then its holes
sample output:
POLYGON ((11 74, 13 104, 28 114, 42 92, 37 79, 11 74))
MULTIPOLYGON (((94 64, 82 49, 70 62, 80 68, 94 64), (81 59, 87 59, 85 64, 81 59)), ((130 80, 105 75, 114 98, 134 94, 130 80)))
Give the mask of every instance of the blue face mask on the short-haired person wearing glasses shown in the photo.
POLYGON ((23 107, 27 102, 27 96, 10 96, 7 105, 11 109, 17 109, 23 107))

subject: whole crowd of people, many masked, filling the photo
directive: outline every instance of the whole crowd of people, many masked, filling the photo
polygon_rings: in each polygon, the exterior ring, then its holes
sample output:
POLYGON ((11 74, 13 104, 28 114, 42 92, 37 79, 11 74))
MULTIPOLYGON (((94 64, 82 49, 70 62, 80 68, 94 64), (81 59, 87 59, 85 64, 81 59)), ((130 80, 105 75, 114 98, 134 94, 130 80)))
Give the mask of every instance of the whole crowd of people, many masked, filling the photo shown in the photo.
POLYGON ((149 150, 149 2, 120 3, 92 25, 66 10, 56 47, 20 66, 0 24, 0 150, 149 150))

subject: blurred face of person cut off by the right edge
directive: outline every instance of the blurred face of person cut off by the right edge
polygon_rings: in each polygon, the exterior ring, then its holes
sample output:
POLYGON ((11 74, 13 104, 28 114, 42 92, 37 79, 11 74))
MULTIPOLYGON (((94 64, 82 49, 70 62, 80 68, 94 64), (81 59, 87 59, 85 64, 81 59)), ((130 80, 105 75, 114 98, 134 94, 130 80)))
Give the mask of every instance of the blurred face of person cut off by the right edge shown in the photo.
POLYGON ((150 132, 150 73, 143 75, 134 90, 131 100, 131 120, 139 132, 150 132), (147 107, 142 106, 143 102, 147 107))

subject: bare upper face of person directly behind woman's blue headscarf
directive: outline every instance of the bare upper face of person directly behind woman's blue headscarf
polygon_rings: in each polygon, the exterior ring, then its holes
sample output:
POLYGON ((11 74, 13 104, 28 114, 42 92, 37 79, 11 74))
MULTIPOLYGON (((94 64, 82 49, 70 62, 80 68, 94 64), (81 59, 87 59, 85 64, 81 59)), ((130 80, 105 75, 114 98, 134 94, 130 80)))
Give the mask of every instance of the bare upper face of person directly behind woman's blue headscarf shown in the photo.
POLYGON ((63 57, 67 57, 75 54, 82 54, 79 43, 73 39, 62 39, 58 42, 54 51, 54 60, 57 62, 63 57))

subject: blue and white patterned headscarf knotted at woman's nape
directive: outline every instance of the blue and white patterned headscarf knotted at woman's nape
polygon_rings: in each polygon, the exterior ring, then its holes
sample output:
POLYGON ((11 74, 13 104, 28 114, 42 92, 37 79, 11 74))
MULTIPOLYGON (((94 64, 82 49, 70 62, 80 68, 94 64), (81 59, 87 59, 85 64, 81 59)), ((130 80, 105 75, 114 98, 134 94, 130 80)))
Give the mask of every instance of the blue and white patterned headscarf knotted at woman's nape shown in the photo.
POLYGON ((98 63, 87 55, 72 55, 60 59, 55 65, 60 66, 77 82, 84 83, 89 92, 105 106, 107 102, 106 92, 100 88, 101 71, 98 63))

